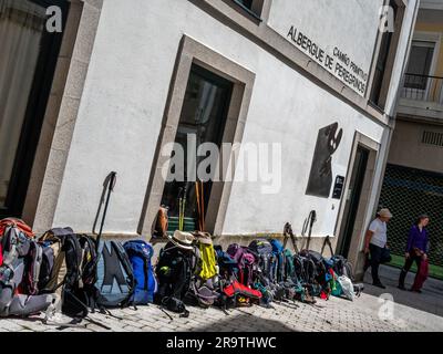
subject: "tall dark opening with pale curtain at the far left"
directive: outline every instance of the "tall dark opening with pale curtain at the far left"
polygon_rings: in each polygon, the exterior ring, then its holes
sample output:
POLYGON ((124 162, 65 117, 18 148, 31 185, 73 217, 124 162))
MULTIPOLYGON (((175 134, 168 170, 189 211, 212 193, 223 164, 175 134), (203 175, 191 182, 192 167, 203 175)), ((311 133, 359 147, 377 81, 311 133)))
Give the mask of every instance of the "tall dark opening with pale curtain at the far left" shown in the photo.
POLYGON ((0 218, 21 217, 61 46, 47 8, 64 0, 0 0, 0 218))

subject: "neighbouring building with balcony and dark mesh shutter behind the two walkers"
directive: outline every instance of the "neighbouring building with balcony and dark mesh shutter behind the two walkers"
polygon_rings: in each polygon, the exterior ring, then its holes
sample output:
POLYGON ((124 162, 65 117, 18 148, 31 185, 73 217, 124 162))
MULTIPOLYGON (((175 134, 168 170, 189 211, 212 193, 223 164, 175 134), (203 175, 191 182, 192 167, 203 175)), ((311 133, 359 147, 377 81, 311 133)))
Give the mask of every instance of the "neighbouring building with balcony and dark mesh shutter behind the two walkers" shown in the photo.
POLYGON ((443 266, 442 32, 443 2, 422 1, 380 196, 395 216, 389 235, 399 256, 414 218, 430 215, 430 260, 437 266, 443 266))

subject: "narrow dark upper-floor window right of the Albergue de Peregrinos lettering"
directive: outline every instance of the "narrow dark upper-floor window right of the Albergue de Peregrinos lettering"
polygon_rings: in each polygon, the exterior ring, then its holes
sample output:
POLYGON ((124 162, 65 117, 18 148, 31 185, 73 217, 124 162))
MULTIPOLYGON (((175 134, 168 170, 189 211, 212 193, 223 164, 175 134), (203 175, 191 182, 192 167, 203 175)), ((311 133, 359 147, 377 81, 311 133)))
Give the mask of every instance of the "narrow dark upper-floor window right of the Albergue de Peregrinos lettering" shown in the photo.
POLYGON ((400 38, 401 23, 403 21, 404 4, 400 7, 398 2, 402 3, 399 0, 389 1, 389 6, 393 10, 394 31, 381 33, 379 55, 374 66, 370 101, 380 108, 384 108, 400 38))

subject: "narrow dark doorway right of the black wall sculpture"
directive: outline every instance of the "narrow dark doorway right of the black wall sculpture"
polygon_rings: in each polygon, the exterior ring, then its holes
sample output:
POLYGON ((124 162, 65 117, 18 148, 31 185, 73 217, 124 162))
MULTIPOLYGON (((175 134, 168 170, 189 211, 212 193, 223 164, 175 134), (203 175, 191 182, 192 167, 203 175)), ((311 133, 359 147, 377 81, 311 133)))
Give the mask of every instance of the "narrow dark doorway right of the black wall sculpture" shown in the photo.
POLYGON ((352 236, 356 230, 356 219, 359 211, 361 194, 363 189, 364 176, 367 175, 368 159, 370 150, 358 145, 356 158, 351 170, 348 194, 343 214, 343 227, 339 236, 337 253, 348 258, 351 247, 352 236))

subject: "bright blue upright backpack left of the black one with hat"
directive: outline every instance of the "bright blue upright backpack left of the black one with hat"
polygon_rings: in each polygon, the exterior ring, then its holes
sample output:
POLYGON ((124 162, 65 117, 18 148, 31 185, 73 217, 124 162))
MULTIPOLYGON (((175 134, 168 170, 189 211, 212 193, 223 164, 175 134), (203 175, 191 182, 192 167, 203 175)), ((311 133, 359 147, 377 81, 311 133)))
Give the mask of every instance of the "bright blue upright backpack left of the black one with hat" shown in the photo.
POLYGON ((147 304, 154 301, 157 292, 157 280, 151 263, 154 254, 153 247, 143 240, 132 240, 123 244, 132 266, 135 279, 135 290, 131 302, 147 304))

